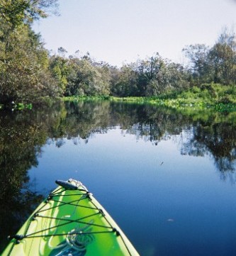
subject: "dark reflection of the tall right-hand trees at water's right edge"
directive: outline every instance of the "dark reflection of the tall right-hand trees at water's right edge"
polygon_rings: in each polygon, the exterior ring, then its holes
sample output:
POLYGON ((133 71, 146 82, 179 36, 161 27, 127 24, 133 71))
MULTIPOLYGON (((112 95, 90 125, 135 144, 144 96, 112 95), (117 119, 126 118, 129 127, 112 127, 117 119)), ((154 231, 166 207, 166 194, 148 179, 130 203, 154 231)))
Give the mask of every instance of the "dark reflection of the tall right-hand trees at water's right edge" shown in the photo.
POLYGON ((235 183, 236 167, 236 130, 235 123, 220 123, 199 120, 186 135, 181 153, 195 156, 211 155, 215 161, 220 177, 235 183))

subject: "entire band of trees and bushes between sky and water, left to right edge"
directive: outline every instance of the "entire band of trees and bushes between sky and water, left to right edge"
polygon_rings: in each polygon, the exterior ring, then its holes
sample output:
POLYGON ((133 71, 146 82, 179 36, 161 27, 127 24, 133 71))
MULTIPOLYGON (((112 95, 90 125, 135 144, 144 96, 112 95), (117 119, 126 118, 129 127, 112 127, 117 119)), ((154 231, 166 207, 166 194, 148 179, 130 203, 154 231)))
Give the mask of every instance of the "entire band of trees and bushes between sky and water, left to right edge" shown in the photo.
POLYGON ((55 11, 56 5, 57 0, 0 0, 0 104, 38 103, 48 96, 176 95, 235 104, 231 95, 236 85, 236 38, 227 28, 212 47, 184 48, 187 67, 155 53, 118 68, 96 62, 89 52, 82 55, 78 50, 67 57, 59 48, 57 54, 49 54, 32 24, 55 11))

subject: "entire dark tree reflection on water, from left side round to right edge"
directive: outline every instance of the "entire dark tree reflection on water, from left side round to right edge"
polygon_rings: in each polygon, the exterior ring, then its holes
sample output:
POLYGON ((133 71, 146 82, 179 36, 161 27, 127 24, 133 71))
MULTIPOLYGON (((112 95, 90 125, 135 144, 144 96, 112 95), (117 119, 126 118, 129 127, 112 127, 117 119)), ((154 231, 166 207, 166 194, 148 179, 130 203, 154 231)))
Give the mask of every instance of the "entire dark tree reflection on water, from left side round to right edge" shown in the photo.
POLYGON ((42 200, 28 178, 45 143, 79 145, 96 133, 120 128, 137 140, 158 145, 176 138, 182 155, 213 157, 221 179, 236 181, 236 114, 191 111, 109 101, 57 103, 50 108, 0 112, 0 250, 42 200), (11 223, 11 224, 10 224, 11 223))

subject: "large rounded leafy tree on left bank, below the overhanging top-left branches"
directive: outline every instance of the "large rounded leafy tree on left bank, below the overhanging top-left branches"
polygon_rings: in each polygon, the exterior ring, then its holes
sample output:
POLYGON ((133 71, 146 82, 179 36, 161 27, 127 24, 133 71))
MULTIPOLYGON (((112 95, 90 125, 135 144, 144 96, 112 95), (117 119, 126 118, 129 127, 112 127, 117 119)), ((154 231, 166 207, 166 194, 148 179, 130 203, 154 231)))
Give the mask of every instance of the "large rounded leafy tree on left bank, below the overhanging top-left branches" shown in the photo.
POLYGON ((57 86, 48 72, 47 52, 28 25, 1 38, 0 102, 32 102, 57 95, 57 86))

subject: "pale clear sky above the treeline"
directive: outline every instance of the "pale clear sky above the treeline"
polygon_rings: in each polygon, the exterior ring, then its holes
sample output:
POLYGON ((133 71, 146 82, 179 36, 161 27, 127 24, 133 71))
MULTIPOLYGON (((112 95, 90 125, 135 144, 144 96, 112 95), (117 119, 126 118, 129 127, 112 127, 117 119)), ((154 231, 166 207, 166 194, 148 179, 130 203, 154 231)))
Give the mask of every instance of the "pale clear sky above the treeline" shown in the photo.
POLYGON ((184 62, 181 50, 213 45, 225 26, 236 32, 236 0, 59 0, 60 16, 36 21, 45 48, 89 52, 120 66, 159 52, 184 62))

